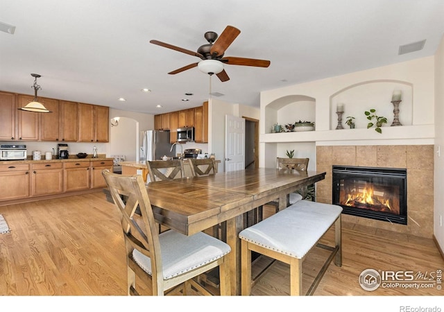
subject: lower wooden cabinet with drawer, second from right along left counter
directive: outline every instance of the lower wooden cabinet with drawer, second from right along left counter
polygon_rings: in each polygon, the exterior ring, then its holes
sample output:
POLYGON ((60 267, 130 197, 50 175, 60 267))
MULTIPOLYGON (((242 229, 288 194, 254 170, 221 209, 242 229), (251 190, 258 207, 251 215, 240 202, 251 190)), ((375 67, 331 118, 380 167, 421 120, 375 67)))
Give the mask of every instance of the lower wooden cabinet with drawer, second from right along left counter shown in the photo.
POLYGON ((89 162, 65 162, 64 173, 65 192, 89 189, 89 162))

